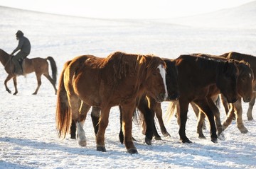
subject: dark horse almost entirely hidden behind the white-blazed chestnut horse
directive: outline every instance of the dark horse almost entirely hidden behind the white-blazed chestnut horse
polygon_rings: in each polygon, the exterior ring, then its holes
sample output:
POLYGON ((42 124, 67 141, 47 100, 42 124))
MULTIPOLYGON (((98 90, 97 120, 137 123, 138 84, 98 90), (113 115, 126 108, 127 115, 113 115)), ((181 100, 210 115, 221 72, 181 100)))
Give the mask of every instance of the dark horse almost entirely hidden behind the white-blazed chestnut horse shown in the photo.
MULTIPOLYGON (((178 90, 178 70, 175 65, 175 59, 163 59, 166 63, 166 85, 167 85, 167 91, 168 91, 168 98, 167 100, 177 100, 179 97, 179 90, 178 90)), ((153 137, 153 132, 156 130, 152 127, 154 126, 154 112, 152 112, 148 107, 148 99, 154 100, 154 98, 151 98, 149 96, 143 97, 137 102, 137 109, 143 113, 144 118, 146 119, 146 128, 144 129, 145 142, 146 144, 151 145, 151 139, 153 137)), ((155 104, 160 104, 154 100, 155 104)), ((154 106, 151 104, 151 106, 154 106)), ((89 110, 90 107, 87 107, 87 110, 89 110)), ((120 115, 120 132, 119 132, 119 140, 123 144, 124 136, 122 133, 122 107, 119 107, 119 110, 121 112, 120 115)), ((98 122, 100 119, 100 108, 99 107, 92 107, 91 112, 92 117, 92 124, 95 129, 95 134, 97 134, 98 131, 98 122)), ((71 139, 75 139, 75 122, 72 121, 71 127, 70 127, 70 135, 71 139)))

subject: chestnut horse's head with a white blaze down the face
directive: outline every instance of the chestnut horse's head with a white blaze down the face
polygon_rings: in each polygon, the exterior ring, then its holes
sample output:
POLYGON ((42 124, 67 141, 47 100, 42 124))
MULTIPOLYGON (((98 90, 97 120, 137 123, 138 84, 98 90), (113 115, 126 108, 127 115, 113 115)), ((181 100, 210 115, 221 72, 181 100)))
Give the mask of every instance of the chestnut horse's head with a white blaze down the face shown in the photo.
POLYGON ((156 101, 162 102, 168 96, 166 88, 166 64, 159 57, 150 56, 149 58, 150 61, 146 66, 146 81, 144 81, 146 93, 156 101))

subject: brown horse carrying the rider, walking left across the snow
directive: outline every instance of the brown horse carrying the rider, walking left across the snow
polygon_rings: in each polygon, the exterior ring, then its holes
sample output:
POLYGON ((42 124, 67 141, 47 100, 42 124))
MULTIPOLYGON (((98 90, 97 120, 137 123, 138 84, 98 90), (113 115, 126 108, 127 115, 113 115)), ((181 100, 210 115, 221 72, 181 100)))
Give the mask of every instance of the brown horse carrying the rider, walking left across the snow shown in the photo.
MULTIPOLYGON (((7 86, 7 82, 13 78, 14 81, 14 88, 15 92, 14 95, 18 93, 18 88, 17 88, 17 75, 14 74, 14 64, 11 62, 11 55, 4 52, 4 50, 0 49, 0 62, 3 64, 4 69, 6 70, 8 76, 6 80, 4 81, 4 86, 6 87, 6 91, 11 93, 10 89, 7 86)), ((53 57, 47 57, 46 59, 36 57, 33 59, 28 59, 26 58, 23 62, 23 75, 25 76, 26 74, 31 74, 32 72, 36 73, 36 79, 38 81, 38 86, 36 88, 36 91, 33 93, 33 95, 36 95, 38 93, 38 90, 41 86, 41 76, 46 76, 46 78, 50 81, 50 83, 53 85, 53 88, 55 90, 55 94, 57 93, 57 88, 55 87, 56 85, 56 76, 57 76, 57 66, 55 64, 55 60, 53 57), (48 62, 50 62, 51 70, 52 70, 52 76, 53 78, 50 77, 49 75, 49 70, 48 70, 48 62)))

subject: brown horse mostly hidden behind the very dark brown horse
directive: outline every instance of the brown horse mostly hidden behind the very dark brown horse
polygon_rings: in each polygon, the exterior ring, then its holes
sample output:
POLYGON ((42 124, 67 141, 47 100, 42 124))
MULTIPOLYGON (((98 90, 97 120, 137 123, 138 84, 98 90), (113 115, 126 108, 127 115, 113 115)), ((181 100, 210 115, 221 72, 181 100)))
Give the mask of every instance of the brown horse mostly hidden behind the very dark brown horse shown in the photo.
MULTIPOLYGON (((210 54, 196 54, 196 56, 198 57, 207 57, 207 58, 213 58, 213 59, 222 59, 222 60, 228 60, 227 58, 223 58, 223 57, 214 57, 213 55, 210 54)), ((245 103, 250 102, 250 100, 253 97, 252 94, 252 81, 253 81, 253 71, 252 69, 250 69, 250 64, 248 64, 247 62, 244 61, 237 61, 235 60, 236 65, 238 66, 238 70, 239 70, 239 74, 238 74, 238 81, 237 81, 237 86, 238 86, 238 100, 235 103, 230 103, 232 104, 236 110, 240 109, 241 105, 241 98, 243 98, 243 101, 245 103)), ((218 95, 220 94, 220 90, 217 88, 217 86, 213 85, 210 86, 210 92, 208 93, 208 99, 212 99, 213 103, 215 103, 215 101, 218 99, 218 95)), ((205 139, 206 137, 203 135, 203 121, 205 119, 205 115, 203 114, 203 112, 201 112, 200 109, 198 109, 198 107, 196 107, 195 104, 191 103, 194 112, 196 112, 196 115, 198 116, 198 126, 197 126, 197 132, 198 132, 198 136, 199 138, 203 138, 205 139)), ((223 132, 223 127, 221 125, 220 122, 220 112, 218 110, 218 107, 215 106, 215 104, 211 105, 211 109, 214 113, 215 116, 215 123, 217 125, 217 129, 218 129, 218 135, 221 134, 221 132, 223 132)), ((240 115, 242 116, 242 115, 240 115)), ((238 115, 238 117, 240 117, 238 115)), ((242 124, 242 117, 237 119, 237 124, 238 124, 238 128, 240 129, 246 129, 243 124, 242 124)))

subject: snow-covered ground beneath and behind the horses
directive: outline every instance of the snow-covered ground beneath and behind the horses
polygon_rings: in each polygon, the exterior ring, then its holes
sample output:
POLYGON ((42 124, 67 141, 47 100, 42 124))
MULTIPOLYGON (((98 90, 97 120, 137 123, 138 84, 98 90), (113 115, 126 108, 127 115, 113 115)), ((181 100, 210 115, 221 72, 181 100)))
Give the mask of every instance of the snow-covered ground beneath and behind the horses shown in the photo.
MULTIPOLYGON (((253 27, 198 28, 164 21, 73 18, 1 6, 0 13, 0 48, 11 53, 17 45, 15 33, 22 30, 31 40, 28 58, 52 56, 59 73, 67 60, 80 54, 105 57, 117 50, 167 58, 193 52, 256 55, 253 27)), ((248 121, 245 113, 243 122, 249 132, 241 134, 232 122, 224 132, 225 140, 217 144, 210 141, 208 129, 204 131, 206 140, 197 138, 191 108, 186 134, 193 144, 178 141, 175 118, 166 121, 171 137, 153 140, 151 146, 144 143, 141 127, 134 124, 132 133, 139 154, 130 155, 119 143, 119 110, 113 107, 105 134, 107 152, 102 153, 96 151, 90 113, 85 122, 86 147, 78 146, 69 136, 58 139, 56 95, 48 80, 42 77, 38 95, 31 95, 36 90, 35 74, 19 76, 18 95, 11 95, 4 88, 6 76, 0 66, 0 168, 256 168, 256 122, 248 121)), ((8 86, 14 92, 12 81, 8 86)), ((245 112, 248 105, 242 106, 245 112)), ((162 107, 166 112, 168 103, 162 107)), ((220 111, 224 120, 223 107, 220 111)))

